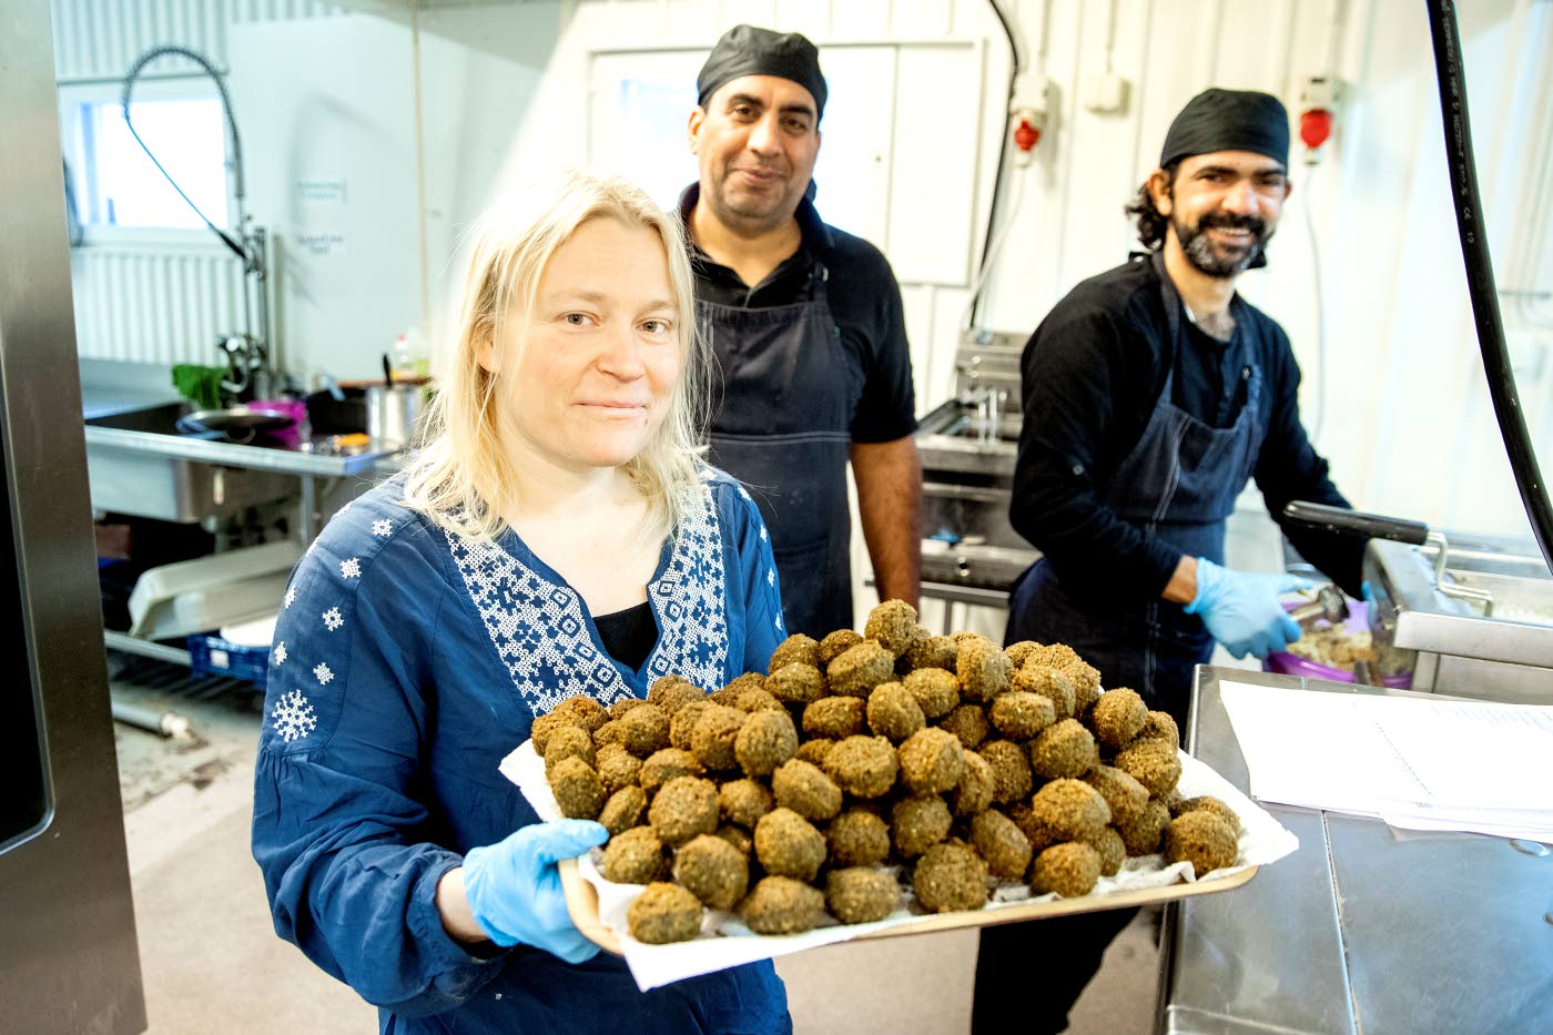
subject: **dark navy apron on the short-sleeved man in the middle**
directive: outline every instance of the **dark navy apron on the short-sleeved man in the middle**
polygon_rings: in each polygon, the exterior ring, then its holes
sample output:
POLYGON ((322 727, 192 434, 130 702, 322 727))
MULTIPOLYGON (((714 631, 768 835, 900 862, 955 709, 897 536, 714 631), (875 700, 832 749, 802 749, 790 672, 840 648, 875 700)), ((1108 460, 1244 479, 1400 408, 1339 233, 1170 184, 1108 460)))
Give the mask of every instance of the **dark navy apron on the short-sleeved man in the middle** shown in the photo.
POLYGON ((820 263, 808 298, 744 309, 696 301, 721 370, 710 460, 759 507, 787 632, 853 628, 846 460, 862 364, 831 319, 820 263))

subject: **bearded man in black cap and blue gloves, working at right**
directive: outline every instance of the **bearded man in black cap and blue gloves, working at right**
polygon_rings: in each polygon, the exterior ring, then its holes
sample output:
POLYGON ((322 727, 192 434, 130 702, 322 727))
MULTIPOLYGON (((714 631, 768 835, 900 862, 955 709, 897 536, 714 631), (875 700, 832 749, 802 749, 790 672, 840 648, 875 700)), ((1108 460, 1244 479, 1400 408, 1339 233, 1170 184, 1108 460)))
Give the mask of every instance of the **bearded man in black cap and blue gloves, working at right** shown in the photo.
MULTIPOLYGON (((1214 642, 1266 657, 1300 636, 1278 597, 1301 580, 1224 567, 1225 519, 1249 479, 1306 559, 1360 589, 1362 542, 1283 521, 1289 500, 1348 500, 1300 424, 1289 337, 1235 292, 1266 263, 1287 160, 1278 98, 1194 96, 1127 208, 1149 252, 1068 292, 1022 359, 1011 519, 1042 558, 1016 583, 1006 640, 1067 643, 1180 729, 1214 642)), ((1005 1030, 1014 996, 1034 1004, 1019 1030, 1062 1030, 1132 915, 985 929, 972 1029, 1005 1030), (1039 991, 1016 974, 1037 974, 1039 991)))

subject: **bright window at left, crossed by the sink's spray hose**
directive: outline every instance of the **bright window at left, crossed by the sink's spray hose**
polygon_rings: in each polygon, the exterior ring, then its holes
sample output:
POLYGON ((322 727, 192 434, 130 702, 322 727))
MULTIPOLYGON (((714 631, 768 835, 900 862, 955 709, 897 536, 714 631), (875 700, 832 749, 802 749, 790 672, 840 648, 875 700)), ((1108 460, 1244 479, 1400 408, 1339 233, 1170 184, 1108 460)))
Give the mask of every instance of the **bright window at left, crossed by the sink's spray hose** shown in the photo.
MULTIPOLYGON (((166 93, 166 85, 157 85, 137 89, 135 132, 200 211, 225 227, 227 131, 221 101, 214 93, 157 96, 166 93), (146 93, 151 96, 141 96, 146 93)), ((89 239, 104 228, 202 230, 200 218, 135 141, 116 89, 112 96, 95 93, 65 99, 61 112, 78 216, 89 239)))

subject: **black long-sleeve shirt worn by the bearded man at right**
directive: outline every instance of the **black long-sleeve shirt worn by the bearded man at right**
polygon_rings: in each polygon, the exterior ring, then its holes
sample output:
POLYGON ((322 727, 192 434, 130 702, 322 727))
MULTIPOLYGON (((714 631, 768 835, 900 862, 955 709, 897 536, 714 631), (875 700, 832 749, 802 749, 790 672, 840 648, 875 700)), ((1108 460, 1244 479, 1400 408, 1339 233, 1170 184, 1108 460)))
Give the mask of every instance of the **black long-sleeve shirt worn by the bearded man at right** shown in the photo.
POLYGON ((1163 592, 1180 550, 1104 504, 1110 479, 1143 435, 1171 367, 1171 401, 1211 427, 1228 427, 1246 406, 1250 364, 1261 367, 1270 415, 1256 486, 1294 547, 1357 595, 1364 542, 1283 521, 1284 504, 1295 499, 1348 507, 1300 424, 1300 367, 1289 337, 1239 295, 1232 314, 1238 328, 1228 342, 1182 314, 1183 345, 1176 350, 1159 274, 1134 258, 1078 284, 1025 345, 1011 519, 1079 598, 1151 600, 1163 592), (1247 333, 1249 322, 1259 333, 1247 333))

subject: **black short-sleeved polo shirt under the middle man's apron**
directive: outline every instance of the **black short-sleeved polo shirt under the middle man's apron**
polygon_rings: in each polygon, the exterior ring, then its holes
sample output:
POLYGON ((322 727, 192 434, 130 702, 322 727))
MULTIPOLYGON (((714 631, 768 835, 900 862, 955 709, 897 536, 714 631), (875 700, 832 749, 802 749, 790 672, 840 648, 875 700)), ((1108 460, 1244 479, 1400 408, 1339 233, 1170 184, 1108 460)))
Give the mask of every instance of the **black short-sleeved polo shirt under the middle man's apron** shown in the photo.
POLYGON ((750 288, 738 274, 711 260, 690 236, 690 214, 700 183, 680 194, 680 219, 696 274, 696 297, 714 305, 766 309, 808 298, 814 277, 826 277, 826 301, 863 371, 862 396, 853 418, 853 441, 882 443, 916 430, 912 350, 905 340, 901 288, 888 260, 874 246, 820 219, 806 197, 795 218, 803 241, 766 280, 750 288))

